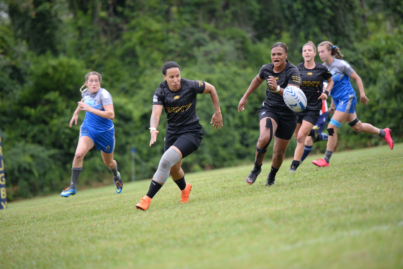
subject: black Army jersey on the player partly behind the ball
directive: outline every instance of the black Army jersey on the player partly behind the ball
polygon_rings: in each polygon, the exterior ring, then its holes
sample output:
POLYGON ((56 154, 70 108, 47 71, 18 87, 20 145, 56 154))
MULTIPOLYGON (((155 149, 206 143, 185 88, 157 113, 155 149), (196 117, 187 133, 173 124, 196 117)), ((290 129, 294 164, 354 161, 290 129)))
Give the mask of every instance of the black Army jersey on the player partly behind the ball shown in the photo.
POLYGON ((306 96, 306 108, 313 110, 322 109, 322 100, 318 100, 323 91, 323 81, 332 77, 332 74, 320 63, 315 62, 314 69, 306 69, 305 61, 297 65, 301 76, 301 90, 306 96), (319 92, 318 92, 319 91, 319 92))

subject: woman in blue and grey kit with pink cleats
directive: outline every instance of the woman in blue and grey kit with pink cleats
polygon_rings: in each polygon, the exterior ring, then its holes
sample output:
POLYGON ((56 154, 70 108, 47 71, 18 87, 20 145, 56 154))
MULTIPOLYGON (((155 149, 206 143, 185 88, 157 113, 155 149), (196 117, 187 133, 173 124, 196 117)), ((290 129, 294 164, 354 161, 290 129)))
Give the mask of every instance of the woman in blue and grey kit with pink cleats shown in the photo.
POLYGON ((323 65, 332 73, 334 85, 332 88, 332 98, 336 105, 336 110, 330 123, 328 124, 328 142, 326 147, 326 153, 324 158, 312 161, 318 166, 329 166, 330 157, 333 154, 333 150, 337 144, 337 129, 342 123, 347 121, 356 132, 372 133, 382 137, 393 149, 393 140, 391 138, 392 130, 389 128, 379 129, 369 123, 362 123, 355 113, 355 106, 357 104, 357 97, 353 86, 351 86, 350 78, 354 79, 357 83, 359 100, 362 104, 367 104, 369 99, 365 95, 364 85, 361 78, 355 73, 351 66, 343 60, 343 55, 340 53, 339 48, 334 46, 329 41, 324 41, 318 45, 318 52, 320 59, 324 61, 323 65), (339 56, 340 59, 336 59, 333 56, 339 56))

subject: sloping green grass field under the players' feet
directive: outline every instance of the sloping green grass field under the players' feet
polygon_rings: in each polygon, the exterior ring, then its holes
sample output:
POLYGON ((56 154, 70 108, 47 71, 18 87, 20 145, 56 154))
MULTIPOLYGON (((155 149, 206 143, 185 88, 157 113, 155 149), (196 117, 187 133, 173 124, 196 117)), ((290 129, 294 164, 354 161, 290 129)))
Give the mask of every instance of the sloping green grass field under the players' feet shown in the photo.
MULTIPOLYGON (((0 268, 403 268, 403 144, 335 153, 274 186, 252 165, 168 180, 147 211, 150 180, 10 202, 0 211, 0 268)), ((78 185, 80 187, 80 185, 78 185)))

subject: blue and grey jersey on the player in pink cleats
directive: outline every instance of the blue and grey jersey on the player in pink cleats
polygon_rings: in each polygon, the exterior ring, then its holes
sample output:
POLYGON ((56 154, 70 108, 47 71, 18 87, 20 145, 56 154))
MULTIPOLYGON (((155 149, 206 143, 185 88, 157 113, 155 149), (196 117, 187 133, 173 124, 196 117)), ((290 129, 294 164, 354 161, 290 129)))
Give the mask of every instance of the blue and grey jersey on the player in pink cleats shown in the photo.
POLYGON ((347 63, 345 60, 334 59, 330 65, 327 65, 326 63, 323 63, 323 65, 332 74, 334 85, 331 93, 334 100, 340 100, 354 92, 349 77, 354 70, 351 68, 349 63, 347 63))

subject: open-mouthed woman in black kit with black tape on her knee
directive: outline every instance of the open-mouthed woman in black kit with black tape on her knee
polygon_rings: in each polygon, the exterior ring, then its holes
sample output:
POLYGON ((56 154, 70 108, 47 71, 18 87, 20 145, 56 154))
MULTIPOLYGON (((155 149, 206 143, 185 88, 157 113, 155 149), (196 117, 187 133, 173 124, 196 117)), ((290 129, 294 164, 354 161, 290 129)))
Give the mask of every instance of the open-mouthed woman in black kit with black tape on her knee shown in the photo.
POLYGON ((255 166, 246 177, 251 185, 262 171, 262 163, 273 134, 276 136, 273 146, 272 167, 266 186, 274 184, 276 173, 283 163, 285 150, 297 126, 297 113, 291 111, 283 100, 284 88, 290 85, 299 88, 299 71, 287 60, 288 47, 283 42, 272 46, 272 63, 263 65, 259 74, 252 80, 249 88, 239 101, 238 112, 245 110, 248 96, 266 81, 266 100, 258 111, 260 136, 256 146, 255 166))

